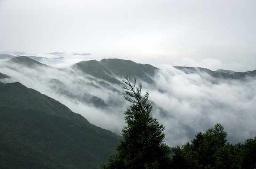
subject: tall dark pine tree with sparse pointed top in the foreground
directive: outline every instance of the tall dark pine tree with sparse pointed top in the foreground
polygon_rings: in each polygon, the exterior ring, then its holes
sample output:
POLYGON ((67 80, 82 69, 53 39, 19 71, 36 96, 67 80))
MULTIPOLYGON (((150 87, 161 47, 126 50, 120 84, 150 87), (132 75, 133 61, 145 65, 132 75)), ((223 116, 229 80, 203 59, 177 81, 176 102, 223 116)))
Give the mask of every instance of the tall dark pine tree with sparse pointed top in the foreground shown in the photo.
POLYGON ((168 169, 170 149, 163 143, 164 126, 151 115, 149 93, 141 96, 142 85, 136 87, 125 77, 125 100, 132 105, 124 112, 127 126, 122 130, 123 140, 117 146, 117 154, 111 156, 103 169, 168 169))

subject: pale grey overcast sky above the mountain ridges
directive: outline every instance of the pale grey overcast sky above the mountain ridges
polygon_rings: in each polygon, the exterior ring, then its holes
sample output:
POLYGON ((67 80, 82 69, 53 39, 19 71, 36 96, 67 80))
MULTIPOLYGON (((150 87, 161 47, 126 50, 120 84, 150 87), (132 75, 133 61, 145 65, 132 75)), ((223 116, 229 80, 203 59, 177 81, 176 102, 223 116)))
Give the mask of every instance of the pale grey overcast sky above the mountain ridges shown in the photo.
POLYGON ((256 0, 0 0, 0 53, 256 69, 256 0))

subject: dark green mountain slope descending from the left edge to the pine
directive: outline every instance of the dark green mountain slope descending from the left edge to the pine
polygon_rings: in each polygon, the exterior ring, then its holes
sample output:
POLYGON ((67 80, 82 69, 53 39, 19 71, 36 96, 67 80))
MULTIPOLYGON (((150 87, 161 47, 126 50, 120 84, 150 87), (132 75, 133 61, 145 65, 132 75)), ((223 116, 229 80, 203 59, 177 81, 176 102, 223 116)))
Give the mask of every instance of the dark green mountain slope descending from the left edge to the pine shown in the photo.
POLYGON ((119 143, 60 102, 0 83, 0 168, 97 169, 119 143))

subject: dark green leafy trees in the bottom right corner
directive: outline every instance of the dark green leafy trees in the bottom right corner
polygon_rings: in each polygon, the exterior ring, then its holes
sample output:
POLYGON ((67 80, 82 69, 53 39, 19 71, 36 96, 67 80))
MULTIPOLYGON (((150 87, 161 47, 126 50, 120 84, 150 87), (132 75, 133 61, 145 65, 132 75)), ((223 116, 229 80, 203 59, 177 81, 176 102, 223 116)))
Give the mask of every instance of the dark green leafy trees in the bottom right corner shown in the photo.
POLYGON ((217 123, 205 133, 199 132, 192 143, 172 148, 173 169, 254 169, 256 138, 245 144, 227 142, 227 132, 217 123))

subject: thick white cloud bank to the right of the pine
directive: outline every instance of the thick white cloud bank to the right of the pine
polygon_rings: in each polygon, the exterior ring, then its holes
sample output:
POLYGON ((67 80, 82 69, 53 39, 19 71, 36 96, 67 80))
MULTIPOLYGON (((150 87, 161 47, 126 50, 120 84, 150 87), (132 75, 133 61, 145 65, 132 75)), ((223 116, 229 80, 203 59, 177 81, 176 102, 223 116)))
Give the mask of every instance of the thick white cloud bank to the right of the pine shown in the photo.
POLYGON ((256 136, 256 79, 220 79, 212 83, 212 78, 205 73, 186 74, 173 67, 161 69, 154 77, 163 92, 151 89, 151 99, 170 115, 159 117, 167 126, 169 145, 184 143, 215 123, 224 125, 231 142, 256 136))

